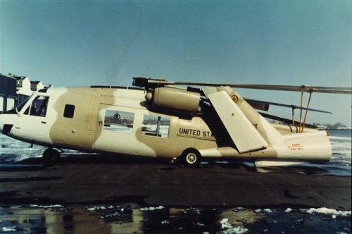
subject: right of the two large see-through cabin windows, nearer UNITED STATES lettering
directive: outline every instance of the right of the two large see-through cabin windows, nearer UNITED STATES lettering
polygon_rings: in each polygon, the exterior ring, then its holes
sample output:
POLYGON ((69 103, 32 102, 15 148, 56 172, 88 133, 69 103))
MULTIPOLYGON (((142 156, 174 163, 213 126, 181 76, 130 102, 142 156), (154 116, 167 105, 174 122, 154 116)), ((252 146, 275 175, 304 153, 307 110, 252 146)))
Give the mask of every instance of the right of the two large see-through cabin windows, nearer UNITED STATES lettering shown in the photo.
POLYGON ((142 135, 156 137, 168 137, 170 128, 170 118, 161 116, 143 116, 142 135))

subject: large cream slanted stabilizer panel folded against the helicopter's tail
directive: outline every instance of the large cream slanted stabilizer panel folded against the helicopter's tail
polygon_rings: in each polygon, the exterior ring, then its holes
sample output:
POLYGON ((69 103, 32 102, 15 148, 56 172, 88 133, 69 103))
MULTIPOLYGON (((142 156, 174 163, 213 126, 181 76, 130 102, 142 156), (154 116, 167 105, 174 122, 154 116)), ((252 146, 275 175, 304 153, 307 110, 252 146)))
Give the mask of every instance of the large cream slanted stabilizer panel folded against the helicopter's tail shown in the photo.
MULTIPOLYGON (((210 92, 209 92, 210 93, 210 92)), ((263 137, 225 91, 207 95, 240 153, 268 147, 263 137)))

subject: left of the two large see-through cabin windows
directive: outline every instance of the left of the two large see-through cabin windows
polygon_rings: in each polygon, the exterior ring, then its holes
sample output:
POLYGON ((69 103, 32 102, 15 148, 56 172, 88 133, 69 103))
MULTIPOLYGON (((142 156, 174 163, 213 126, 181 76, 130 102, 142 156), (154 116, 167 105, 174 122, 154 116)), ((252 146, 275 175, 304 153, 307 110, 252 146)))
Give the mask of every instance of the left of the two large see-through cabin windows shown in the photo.
POLYGON ((133 132, 134 113, 106 110, 104 129, 122 133, 133 132))

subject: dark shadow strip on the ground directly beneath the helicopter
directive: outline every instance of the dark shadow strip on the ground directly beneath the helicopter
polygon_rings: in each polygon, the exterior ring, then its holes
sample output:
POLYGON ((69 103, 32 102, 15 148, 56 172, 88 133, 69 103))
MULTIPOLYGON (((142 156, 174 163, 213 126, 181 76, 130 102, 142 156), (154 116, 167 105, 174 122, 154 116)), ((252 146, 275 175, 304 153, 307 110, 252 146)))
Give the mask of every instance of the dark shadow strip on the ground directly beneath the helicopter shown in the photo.
MULTIPOLYGON (((170 159, 165 158, 152 158, 146 156, 131 156, 125 154, 70 154, 65 153, 55 163, 45 163, 41 157, 23 159, 1 166, 1 171, 7 171, 16 168, 15 171, 28 171, 36 170, 39 168, 49 169, 53 166, 60 165, 64 166, 67 164, 116 164, 116 165, 156 165, 165 166, 165 170, 173 170, 175 168, 184 168, 182 162, 177 161, 171 163, 170 159), (7 169, 6 169, 7 168, 7 169)), ((272 167, 259 167, 257 168, 254 164, 248 164, 244 161, 227 160, 219 161, 218 159, 204 159, 200 164, 199 168, 192 169, 212 169, 214 167, 221 167, 225 169, 246 170, 252 173, 294 173, 299 175, 307 176, 325 176, 331 175, 332 173, 327 168, 314 164, 312 165, 295 165, 295 166, 272 166, 272 167)))

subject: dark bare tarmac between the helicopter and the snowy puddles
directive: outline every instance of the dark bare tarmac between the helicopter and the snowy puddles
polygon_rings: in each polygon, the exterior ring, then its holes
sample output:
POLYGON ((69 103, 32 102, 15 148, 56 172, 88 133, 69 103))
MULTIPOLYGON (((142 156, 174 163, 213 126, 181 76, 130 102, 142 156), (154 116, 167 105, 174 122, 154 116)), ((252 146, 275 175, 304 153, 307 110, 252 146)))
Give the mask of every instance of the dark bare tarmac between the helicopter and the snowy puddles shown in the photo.
POLYGON ((351 177, 318 168, 240 164, 182 168, 166 161, 70 156, 58 164, 26 159, 0 168, 0 204, 329 207, 351 210, 351 177))

